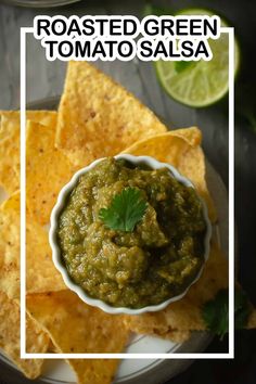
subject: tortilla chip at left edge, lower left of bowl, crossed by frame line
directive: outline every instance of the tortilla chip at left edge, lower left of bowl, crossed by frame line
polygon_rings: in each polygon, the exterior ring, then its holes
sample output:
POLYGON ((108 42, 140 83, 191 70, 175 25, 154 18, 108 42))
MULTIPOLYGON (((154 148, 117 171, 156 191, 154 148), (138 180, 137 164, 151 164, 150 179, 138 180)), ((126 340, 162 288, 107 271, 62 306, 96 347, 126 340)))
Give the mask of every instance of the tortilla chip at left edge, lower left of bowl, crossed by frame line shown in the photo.
MULTIPOLYGON (((20 192, 0 207, 0 290, 11 298, 20 297, 20 192)), ((48 233, 27 215, 26 290, 49 292, 65 289, 55 269, 48 233)))

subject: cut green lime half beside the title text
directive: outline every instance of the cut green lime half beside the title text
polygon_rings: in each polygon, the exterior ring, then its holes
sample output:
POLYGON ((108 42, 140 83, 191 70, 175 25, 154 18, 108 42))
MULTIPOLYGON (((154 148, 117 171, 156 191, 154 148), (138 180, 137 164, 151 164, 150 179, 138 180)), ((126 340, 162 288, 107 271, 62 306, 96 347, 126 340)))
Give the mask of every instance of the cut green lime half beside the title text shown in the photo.
MULTIPOLYGON (((178 15, 214 15, 202 9, 183 10, 178 15)), ((221 18, 221 26, 227 23, 221 18)), ((166 92, 182 104, 202 107, 220 100, 229 90, 229 36, 209 39, 213 59, 208 62, 174 62, 159 60, 155 68, 166 92), (182 64, 185 63, 185 64, 182 64)), ((234 44, 234 75, 239 68, 239 46, 234 44)))

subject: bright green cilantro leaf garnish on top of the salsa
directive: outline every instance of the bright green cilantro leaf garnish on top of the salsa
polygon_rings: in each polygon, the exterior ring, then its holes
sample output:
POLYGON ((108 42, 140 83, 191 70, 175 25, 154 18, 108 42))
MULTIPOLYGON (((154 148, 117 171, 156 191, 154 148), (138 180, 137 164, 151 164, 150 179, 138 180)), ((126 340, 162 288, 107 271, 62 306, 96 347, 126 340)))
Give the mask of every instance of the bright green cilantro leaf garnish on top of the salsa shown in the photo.
POLYGON ((110 229, 132 232, 146 210, 142 192, 128 187, 117 193, 107 208, 101 208, 99 218, 110 229))

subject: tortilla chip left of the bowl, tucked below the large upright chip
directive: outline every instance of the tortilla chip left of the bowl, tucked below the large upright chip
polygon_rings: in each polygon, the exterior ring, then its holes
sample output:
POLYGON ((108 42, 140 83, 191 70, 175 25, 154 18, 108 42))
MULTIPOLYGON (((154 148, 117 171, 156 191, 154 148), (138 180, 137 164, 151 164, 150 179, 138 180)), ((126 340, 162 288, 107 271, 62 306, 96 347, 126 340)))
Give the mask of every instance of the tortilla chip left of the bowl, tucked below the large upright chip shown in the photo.
POLYGON ((37 222, 46 225, 62 187, 74 174, 67 157, 54 146, 55 115, 48 126, 28 121, 27 207, 37 222))

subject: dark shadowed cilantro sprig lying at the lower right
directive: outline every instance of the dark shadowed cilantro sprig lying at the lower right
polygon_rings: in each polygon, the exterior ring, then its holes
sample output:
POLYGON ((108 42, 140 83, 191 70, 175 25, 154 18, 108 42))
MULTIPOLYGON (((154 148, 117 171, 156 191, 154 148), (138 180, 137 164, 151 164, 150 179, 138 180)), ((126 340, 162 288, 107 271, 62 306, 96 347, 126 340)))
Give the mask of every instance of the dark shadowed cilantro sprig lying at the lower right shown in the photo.
MULTIPOLYGON (((234 325, 242 329, 246 325, 251 313, 249 300, 239 287, 234 291, 234 325)), ((229 330, 229 291, 220 290, 215 298, 205 303, 202 316, 208 331, 218 335, 220 340, 229 330)))

